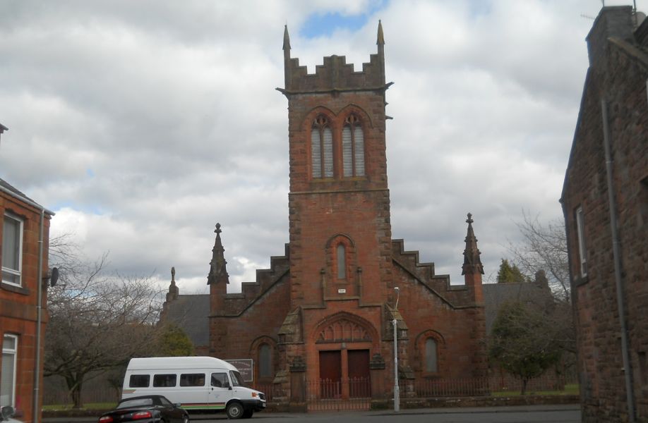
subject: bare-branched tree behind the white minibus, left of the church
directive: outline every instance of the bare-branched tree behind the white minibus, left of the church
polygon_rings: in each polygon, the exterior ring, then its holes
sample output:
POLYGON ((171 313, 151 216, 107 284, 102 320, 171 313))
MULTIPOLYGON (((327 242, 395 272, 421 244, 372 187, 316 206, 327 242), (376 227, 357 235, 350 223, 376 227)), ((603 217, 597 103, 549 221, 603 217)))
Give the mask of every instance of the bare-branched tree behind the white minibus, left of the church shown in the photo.
POLYGON ((161 309, 150 278, 105 276, 107 255, 88 264, 78 252, 59 242, 51 256, 63 283, 49 290, 44 360, 44 376, 63 377, 74 407, 88 378, 152 353, 161 309))

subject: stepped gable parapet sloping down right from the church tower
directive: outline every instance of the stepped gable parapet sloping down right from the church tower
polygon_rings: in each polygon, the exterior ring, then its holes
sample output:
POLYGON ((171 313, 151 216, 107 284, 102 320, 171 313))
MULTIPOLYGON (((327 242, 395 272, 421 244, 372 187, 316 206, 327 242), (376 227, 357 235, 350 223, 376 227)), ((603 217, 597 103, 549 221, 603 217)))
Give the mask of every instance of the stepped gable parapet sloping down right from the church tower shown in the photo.
POLYGON ((450 285, 450 275, 435 274, 434 263, 419 262, 419 252, 405 251, 402 239, 392 240, 392 262, 450 307, 462 308, 471 305, 467 286, 450 285))

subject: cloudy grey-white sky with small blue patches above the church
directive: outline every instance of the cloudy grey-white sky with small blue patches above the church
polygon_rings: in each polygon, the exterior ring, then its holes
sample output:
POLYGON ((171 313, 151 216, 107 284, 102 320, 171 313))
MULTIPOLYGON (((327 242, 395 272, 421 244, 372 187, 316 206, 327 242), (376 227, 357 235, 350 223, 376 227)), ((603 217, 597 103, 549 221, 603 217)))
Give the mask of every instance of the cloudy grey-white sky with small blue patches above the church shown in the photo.
MULTIPOLYGON (((606 5, 632 4, 606 1, 606 5)), ((0 1, 0 178, 89 259, 205 293, 288 242, 282 36, 313 72, 385 34, 392 238, 462 283, 466 214, 493 281, 522 210, 558 198, 600 0, 0 1)), ((637 0, 648 11, 648 0, 637 0)))

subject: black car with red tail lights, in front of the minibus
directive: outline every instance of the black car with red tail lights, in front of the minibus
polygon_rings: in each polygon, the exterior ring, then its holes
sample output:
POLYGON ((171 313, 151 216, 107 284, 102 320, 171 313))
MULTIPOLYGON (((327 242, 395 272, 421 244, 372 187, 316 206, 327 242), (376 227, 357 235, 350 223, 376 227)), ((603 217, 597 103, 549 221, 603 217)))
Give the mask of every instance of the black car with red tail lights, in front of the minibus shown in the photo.
POLYGON ((189 415, 164 396, 146 395, 121 400, 114 410, 99 418, 99 423, 117 422, 188 423, 189 415))

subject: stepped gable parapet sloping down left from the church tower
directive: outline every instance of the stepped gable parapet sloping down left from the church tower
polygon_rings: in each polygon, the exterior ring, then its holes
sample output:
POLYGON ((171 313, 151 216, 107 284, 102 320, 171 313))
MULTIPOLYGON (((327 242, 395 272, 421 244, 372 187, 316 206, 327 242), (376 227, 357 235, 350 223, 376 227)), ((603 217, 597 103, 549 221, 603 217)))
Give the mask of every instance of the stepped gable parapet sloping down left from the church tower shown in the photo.
POLYGON ((256 281, 241 283, 241 292, 225 295, 225 314, 239 315, 268 293, 277 283, 287 280, 290 269, 289 245, 283 256, 270 257, 270 269, 257 269, 256 281))

